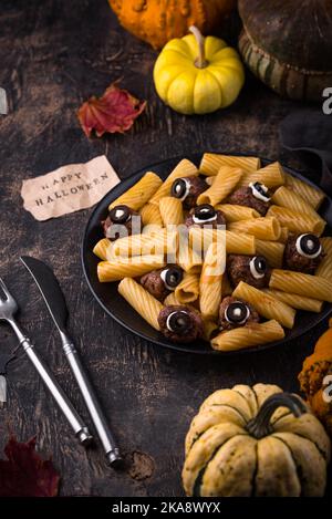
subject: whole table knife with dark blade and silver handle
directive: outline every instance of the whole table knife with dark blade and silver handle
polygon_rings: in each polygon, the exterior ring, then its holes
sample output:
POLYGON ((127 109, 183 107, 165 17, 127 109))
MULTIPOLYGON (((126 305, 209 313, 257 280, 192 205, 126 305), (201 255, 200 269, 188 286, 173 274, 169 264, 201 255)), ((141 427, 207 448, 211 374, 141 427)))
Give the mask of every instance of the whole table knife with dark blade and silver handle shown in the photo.
POLYGON ((122 457, 115 439, 107 426, 106 418, 96 398, 95 392, 82 365, 77 350, 66 331, 69 312, 58 279, 50 267, 48 267, 43 261, 29 256, 22 256, 21 261, 34 279, 59 330, 64 354, 79 384, 85 405, 103 445, 106 460, 111 466, 116 467, 122 460, 122 457))

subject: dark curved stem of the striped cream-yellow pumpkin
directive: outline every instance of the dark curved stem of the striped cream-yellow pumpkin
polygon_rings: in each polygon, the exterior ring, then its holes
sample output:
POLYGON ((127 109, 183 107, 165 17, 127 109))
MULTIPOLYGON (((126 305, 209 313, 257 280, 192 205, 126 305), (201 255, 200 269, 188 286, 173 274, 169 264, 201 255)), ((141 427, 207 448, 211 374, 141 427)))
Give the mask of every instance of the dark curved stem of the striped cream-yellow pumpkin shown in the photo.
POLYGON ((307 407, 299 396, 291 393, 277 393, 266 399, 257 416, 247 424, 247 430, 259 439, 272 434, 273 427, 270 419, 278 407, 288 407, 298 418, 307 413, 307 407))

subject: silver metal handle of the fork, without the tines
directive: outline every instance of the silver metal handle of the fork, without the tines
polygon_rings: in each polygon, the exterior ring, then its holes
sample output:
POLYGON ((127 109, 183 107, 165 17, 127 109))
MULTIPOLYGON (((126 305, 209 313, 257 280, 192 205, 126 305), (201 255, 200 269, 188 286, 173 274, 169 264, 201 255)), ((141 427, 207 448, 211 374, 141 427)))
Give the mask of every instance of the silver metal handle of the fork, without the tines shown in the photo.
POLYGON ((30 359, 31 363, 33 364, 35 371, 41 376, 43 383, 52 394, 53 398, 55 399, 56 404, 59 405, 60 409, 66 417, 69 424, 71 425, 76 438, 79 442, 87 446, 92 442, 92 436, 84 424, 81 416, 77 414, 73 404, 70 402, 66 394, 63 392, 61 386, 59 385, 56 378, 50 371, 49 366, 40 357, 40 355, 34 350, 33 345, 31 344, 30 340, 22 333, 19 325, 14 321, 10 321, 12 328, 14 329, 20 344, 22 345, 24 352, 27 353, 28 357, 30 359))

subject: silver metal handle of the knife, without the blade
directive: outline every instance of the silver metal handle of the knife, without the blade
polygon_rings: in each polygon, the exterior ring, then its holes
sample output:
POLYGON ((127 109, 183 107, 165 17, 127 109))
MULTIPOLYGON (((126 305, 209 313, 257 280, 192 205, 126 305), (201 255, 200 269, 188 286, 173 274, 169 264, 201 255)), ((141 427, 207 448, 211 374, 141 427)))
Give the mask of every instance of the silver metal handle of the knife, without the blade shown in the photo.
POLYGON ((64 334, 62 334, 62 343, 68 362, 71 366, 74 377, 76 378, 76 382, 85 401, 87 411, 91 415, 100 440, 103 445, 107 463, 112 466, 115 466, 122 460, 122 456, 120 454, 120 449, 116 445, 116 442, 108 428, 105 415, 97 401, 95 392, 81 363, 79 353, 74 344, 72 344, 72 342, 70 342, 64 334))

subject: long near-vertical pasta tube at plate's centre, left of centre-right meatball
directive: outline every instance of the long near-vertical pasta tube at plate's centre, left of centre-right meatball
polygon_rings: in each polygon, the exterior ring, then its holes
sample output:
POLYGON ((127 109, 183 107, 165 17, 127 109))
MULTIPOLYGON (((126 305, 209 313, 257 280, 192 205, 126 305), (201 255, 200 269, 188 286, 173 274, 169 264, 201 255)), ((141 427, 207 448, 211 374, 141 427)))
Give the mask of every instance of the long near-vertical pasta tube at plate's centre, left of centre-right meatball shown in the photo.
POLYGON ((206 253, 199 279, 199 309, 206 319, 217 319, 221 302, 221 283, 226 268, 226 251, 211 243, 206 253))

